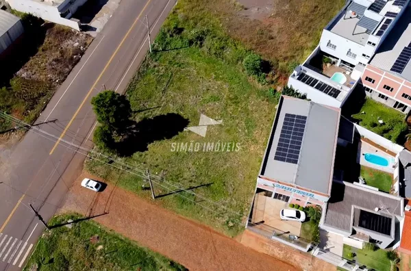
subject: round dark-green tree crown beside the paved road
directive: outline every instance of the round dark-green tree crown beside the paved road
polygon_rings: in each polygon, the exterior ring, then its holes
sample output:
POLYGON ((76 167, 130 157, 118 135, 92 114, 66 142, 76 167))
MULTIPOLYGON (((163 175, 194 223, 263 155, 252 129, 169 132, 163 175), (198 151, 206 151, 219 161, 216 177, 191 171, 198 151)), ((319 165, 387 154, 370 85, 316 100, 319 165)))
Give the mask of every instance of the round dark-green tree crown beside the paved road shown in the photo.
POLYGON ((124 95, 105 90, 91 99, 92 109, 105 129, 119 131, 124 129, 132 114, 132 107, 124 95))

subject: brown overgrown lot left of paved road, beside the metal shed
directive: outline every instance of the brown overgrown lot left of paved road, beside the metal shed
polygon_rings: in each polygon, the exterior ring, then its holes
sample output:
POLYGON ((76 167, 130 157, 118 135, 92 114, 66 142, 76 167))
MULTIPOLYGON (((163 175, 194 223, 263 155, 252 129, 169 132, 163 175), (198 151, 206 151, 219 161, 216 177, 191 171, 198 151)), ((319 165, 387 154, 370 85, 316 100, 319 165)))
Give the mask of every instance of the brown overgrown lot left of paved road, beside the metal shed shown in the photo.
MULTIPOLYGON (((0 63, 0 111, 32 123, 92 41, 88 34, 29 14, 25 34, 0 63)), ((0 118, 0 131, 14 125, 0 118)))

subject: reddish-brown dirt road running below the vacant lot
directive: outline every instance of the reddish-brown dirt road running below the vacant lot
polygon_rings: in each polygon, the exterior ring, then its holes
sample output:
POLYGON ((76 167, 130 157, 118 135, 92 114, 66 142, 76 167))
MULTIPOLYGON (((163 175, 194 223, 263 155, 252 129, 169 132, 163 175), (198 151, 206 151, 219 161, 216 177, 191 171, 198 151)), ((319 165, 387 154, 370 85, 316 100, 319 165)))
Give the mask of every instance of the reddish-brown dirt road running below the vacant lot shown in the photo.
POLYGON ((101 193, 82 188, 80 181, 84 177, 82 175, 75 181, 60 211, 90 216, 108 211, 95 220, 190 270, 299 270, 149 203, 132 192, 121 188, 115 188, 113 192, 114 185, 108 185, 101 193))

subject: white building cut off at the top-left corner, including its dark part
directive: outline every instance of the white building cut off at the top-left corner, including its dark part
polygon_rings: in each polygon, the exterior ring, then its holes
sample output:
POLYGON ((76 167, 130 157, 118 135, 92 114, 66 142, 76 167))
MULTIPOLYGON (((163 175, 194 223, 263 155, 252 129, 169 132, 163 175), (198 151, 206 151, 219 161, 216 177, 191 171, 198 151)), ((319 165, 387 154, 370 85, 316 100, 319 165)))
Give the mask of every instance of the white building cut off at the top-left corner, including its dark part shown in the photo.
POLYGON ((45 21, 66 25, 79 30, 79 22, 71 16, 87 0, 6 0, 10 7, 40 17, 45 21))

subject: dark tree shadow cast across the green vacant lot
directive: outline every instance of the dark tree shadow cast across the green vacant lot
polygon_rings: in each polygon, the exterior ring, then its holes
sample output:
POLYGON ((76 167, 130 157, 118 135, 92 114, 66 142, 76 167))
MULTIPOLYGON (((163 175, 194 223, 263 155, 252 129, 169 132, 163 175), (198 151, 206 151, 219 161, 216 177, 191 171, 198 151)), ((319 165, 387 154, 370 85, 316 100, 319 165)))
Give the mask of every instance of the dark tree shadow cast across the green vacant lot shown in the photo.
POLYGON ((115 144, 116 152, 126 157, 147 151, 150 143, 173 138, 184 131, 188 123, 187 118, 175 113, 145 118, 140 122, 132 121, 123 140, 115 144))

